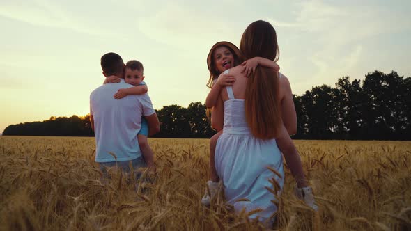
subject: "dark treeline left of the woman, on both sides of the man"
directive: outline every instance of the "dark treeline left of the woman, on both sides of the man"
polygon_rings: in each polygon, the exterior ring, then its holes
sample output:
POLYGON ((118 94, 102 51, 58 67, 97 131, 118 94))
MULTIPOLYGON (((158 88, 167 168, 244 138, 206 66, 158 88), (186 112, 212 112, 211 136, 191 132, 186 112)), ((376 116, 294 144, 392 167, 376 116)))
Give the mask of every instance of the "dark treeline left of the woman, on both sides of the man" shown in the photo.
MULTIPOLYGON (((163 106, 155 110, 160 120, 158 138, 209 138, 215 131, 206 117, 206 105, 201 102, 163 106)), ((24 122, 4 129, 3 136, 94 136, 90 115, 55 117, 42 122, 24 122)))

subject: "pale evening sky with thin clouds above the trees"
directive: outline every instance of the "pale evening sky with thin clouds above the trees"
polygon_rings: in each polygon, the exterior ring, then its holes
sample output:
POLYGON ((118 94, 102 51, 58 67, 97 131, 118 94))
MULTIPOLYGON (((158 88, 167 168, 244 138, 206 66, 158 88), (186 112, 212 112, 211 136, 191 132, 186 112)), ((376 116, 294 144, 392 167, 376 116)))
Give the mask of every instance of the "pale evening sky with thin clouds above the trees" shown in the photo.
POLYGON ((137 59, 155 109, 205 102, 215 42, 240 44, 251 22, 277 31, 293 93, 380 70, 411 76, 411 1, 0 0, 0 133, 85 116, 104 81, 100 57, 137 59))

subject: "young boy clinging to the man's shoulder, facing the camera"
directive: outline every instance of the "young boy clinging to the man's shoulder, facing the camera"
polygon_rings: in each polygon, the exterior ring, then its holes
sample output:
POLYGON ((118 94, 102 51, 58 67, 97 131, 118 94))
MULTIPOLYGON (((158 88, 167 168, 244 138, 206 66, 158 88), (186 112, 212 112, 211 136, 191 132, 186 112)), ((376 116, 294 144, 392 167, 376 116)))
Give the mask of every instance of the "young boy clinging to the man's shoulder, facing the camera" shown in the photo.
MULTIPOLYGON (((139 61, 132 60, 128 61, 124 67, 124 81, 126 83, 131 84, 134 87, 131 88, 122 88, 119 89, 116 94, 114 94, 114 98, 121 99, 127 95, 143 95, 146 94, 148 91, 146 83, 144 83, 144 67, 143 64, 139 61)), ((115 76, 109 76, 104 80, 105 83, 118 83, 120 79, 115 76)), ((141 129, 139 134, 137 135, 137 140, 139 141, 140 150, 143 153, 144 160, 148 168, 152 172, 155 172, 156 167, 154 164, 154 154, 148 145, 147 141, 148 136, 148 122, 143 117, 141 118, 141 129)))

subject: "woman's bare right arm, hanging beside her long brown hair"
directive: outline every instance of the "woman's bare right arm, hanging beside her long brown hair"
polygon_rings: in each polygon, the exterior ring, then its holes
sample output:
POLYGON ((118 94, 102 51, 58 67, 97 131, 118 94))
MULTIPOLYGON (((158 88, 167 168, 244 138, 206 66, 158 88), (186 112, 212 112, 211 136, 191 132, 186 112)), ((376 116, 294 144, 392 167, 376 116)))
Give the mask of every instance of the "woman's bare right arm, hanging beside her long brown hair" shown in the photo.
POLYGON ((297 133, 297 113, 295 112, 293 92, 291 90, 290 82, 284 75, 280 78, 280 92, 283 95, 281 99, 281 118, 288 134, 293 135, 297 133))

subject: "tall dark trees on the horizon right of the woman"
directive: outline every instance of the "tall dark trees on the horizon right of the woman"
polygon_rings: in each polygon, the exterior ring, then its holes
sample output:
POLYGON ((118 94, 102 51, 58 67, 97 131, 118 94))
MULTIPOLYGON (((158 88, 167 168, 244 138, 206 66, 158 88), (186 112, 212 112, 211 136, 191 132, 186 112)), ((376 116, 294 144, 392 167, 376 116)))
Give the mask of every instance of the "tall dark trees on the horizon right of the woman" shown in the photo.
POLYGON ((375 71, 295 96, 296 138, 411 140, 411 78, 375 71))

